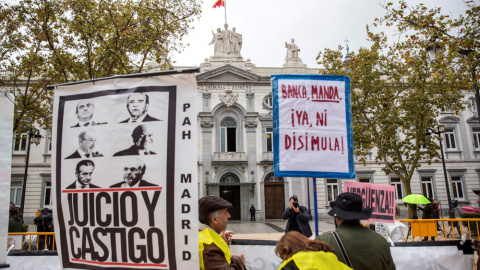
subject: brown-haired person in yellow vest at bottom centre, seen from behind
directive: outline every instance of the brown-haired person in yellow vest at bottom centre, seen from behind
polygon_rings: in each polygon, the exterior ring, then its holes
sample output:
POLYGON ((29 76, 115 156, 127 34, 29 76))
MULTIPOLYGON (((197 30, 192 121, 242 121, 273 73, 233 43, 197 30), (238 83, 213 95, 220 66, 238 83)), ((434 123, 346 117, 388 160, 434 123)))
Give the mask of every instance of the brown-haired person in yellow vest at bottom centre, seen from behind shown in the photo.
POLYGON ((340 262, 335 250, 327 243, 310 240, 297 231, 286 233, 275 247, 275 254, 283 260, 278 270, 350 270, 340 262))

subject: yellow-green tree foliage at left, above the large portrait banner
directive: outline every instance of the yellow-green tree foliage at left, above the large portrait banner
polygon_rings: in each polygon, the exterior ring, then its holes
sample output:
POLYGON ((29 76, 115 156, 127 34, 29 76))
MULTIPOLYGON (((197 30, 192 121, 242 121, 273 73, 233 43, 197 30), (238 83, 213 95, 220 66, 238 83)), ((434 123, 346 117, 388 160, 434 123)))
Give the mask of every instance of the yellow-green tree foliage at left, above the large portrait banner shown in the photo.
POLYGON ((1 3, 0 68, 16 97, 14 132, 32 122, 49 128, 47 85, 172 68, 169 52, 184 48, 200 12, 196 0, 1 3))

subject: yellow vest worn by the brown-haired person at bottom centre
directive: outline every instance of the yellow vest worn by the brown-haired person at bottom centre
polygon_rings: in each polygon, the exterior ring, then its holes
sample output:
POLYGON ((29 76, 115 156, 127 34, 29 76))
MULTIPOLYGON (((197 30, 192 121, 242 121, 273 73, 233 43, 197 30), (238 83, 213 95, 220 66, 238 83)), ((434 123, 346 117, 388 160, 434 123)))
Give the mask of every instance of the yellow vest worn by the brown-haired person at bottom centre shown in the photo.
POLYGON ((287 263, 294 261, 300 270, 321 269, 321 270, 351 270, 346 264, 337 259, 337 255, 325 251, 300 251, 286 259, 278 268, 281 270, 287 263))

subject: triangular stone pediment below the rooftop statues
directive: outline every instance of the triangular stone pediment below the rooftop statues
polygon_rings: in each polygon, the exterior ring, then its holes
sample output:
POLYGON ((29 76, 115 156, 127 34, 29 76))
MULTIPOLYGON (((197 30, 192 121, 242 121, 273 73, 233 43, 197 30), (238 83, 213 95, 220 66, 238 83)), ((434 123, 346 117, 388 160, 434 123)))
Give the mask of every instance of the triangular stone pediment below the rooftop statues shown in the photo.
POLYGON ((228 64, 197 75, 197 83, 257 83, 264 80, 269 81, 269 78, 228 64))

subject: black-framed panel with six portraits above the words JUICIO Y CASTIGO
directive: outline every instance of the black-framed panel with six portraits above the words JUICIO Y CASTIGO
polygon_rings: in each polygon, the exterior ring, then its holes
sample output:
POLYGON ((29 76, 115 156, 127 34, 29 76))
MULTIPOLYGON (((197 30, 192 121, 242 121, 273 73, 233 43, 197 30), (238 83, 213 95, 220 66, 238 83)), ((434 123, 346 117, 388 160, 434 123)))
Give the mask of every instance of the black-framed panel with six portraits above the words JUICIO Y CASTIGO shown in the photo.
POLYGON ((56 194, 64 261, 85 269, 168 268, 174 91, 151 86, 60 97, 56 194))

